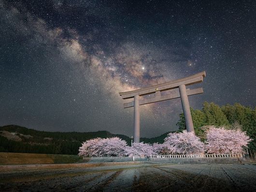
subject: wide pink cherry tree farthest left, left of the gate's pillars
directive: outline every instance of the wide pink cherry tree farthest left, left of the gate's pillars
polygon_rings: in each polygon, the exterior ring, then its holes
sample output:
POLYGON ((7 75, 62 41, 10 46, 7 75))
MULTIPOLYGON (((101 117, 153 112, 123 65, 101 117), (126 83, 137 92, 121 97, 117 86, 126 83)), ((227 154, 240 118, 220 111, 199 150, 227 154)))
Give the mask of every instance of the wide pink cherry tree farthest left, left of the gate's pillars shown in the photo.
POLYGON ((85 141, 78 155, 84 157, 125 156, 127 143, 119 137, 94 138, 85 141))

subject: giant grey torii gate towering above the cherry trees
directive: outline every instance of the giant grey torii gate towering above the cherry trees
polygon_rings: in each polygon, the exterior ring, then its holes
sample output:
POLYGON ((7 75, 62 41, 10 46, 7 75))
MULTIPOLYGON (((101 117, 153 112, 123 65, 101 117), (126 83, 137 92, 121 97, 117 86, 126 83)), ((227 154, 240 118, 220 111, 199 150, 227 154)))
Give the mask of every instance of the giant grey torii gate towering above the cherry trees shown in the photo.
POLYGON ((190 113, 189 103, 187 96, 192 96, 196 94, 203 93, 202 88, 197 89, 186 89, 187 85, 196 84, 203 82, 205 77, 205 71, 197 73, 195 75, 185 77, 182 79, 174 80, 171 82, 164 82, 157 85, 152 85, 149 87, 144 87, 134 91, 121 92, 119 93, 123 99, 134 98, 133 101, 124 103, 124 108, 134 107, 134 142, 140 142, 140 105, 145 105, 148 103, 155 103, 158 101, 164 101, 174 98, 181 97, 182 108, 185 116, 186 130, 187 132, 194 132, 194 126, 192 122, 192 117, 190 113), (169 95, 161 95, 161 92, 179 88, 179 93, 171 93, 169 95), (145 96, 149 94, 155 94, 154 97, 140 100, 140 96, 145 96))

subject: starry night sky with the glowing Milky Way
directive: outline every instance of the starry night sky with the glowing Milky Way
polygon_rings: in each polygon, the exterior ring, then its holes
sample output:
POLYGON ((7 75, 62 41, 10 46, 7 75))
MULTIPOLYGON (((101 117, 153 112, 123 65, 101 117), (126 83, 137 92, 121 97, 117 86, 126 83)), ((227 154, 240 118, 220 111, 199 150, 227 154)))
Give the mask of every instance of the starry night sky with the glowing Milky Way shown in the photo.
MULTIPOLYGON (((206 71, 190 106, 256 106, 256 1, 0 0, 0 126, 133 135, 119 92, 206 71)), ((180 98, 140 107, 176 130, 180 98)))

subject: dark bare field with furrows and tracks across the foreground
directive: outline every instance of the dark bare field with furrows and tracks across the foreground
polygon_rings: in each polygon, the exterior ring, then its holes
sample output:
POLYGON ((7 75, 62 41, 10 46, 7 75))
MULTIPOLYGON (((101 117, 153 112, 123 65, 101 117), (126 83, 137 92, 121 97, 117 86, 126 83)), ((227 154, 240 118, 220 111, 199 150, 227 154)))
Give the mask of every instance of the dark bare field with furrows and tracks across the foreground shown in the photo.
POLYGON ((0 166, 0 191, 256 191, 256 165, 80 165, 0 166))

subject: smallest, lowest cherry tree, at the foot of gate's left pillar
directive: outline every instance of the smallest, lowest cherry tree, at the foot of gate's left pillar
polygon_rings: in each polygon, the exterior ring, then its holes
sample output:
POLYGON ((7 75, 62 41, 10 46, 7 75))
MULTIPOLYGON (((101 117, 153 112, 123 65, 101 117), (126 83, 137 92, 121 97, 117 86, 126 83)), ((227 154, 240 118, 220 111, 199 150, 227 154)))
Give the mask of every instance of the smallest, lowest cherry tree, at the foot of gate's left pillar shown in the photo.
POLYGON ((128 156, 150 156, 154 154, 154 149, 153 146, 147 143, 133 143, 132 147, 127 147, 126 148, 128 156))

